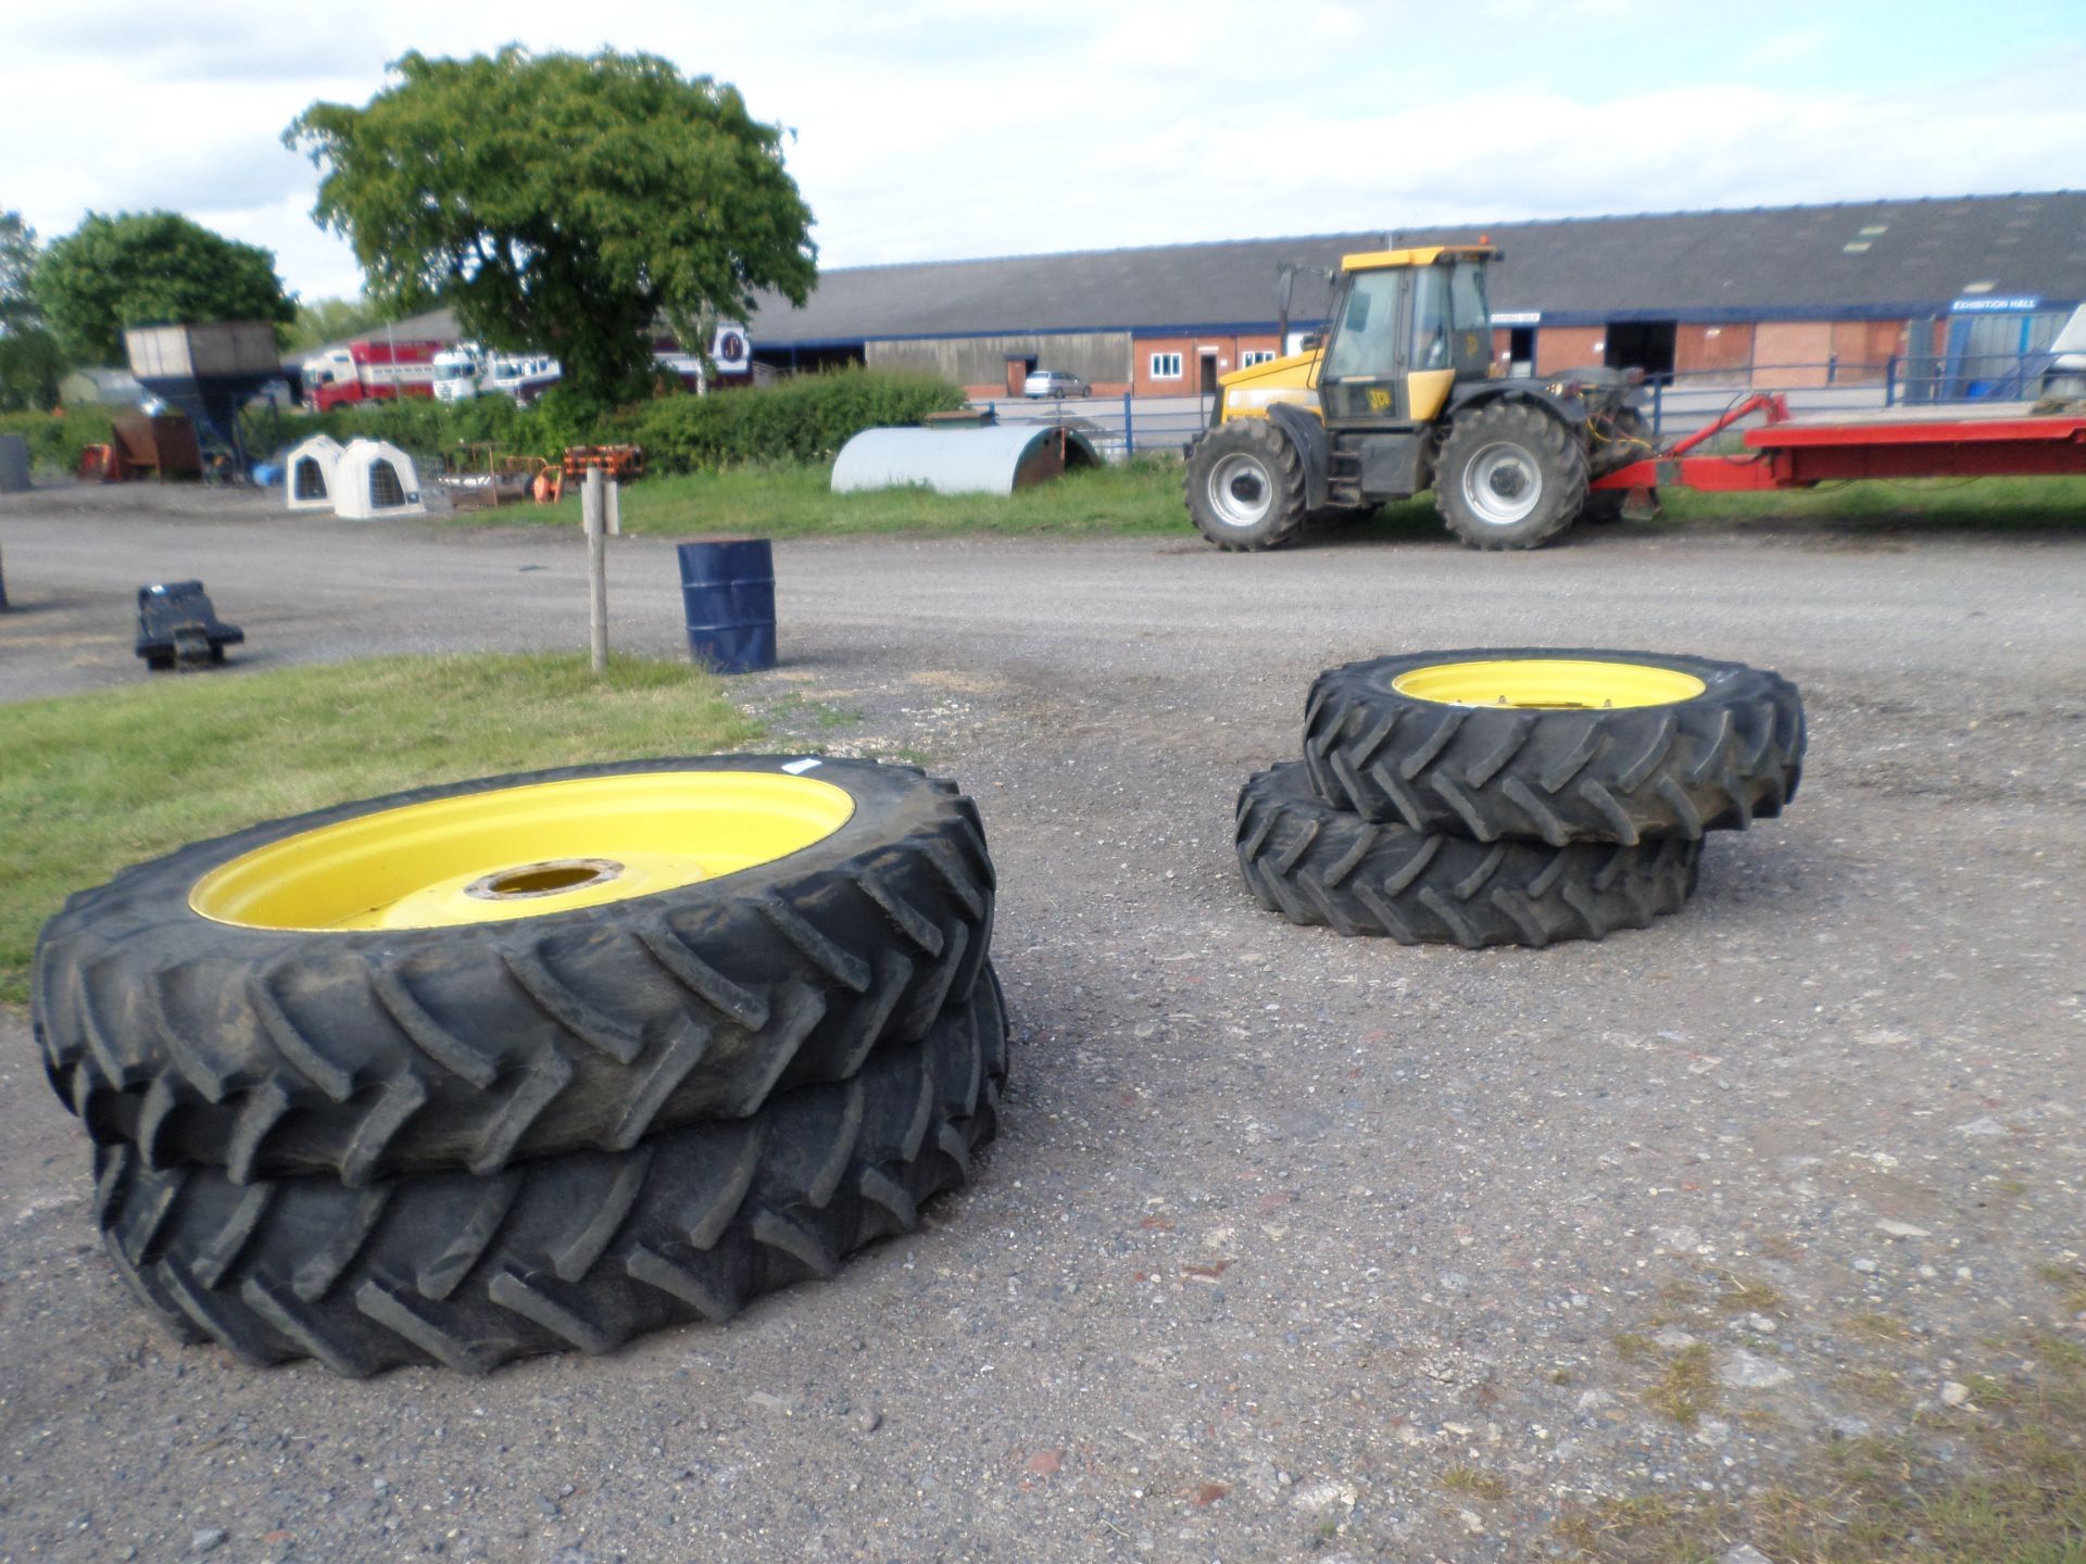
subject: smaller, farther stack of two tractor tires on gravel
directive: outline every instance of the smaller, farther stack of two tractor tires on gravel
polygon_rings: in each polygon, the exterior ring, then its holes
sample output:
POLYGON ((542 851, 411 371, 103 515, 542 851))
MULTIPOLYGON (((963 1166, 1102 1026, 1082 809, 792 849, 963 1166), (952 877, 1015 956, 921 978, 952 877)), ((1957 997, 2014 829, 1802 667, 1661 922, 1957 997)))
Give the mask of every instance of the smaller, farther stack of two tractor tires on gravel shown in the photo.
POLYGON ((1293 924, 1550 945, 1679 911, 1702 840, 1779 815, 1804 711, 1777 674, 1621 651, 1444 651, 1318 676, 1304 759, 1239 792, 1247 888, 1293 924))

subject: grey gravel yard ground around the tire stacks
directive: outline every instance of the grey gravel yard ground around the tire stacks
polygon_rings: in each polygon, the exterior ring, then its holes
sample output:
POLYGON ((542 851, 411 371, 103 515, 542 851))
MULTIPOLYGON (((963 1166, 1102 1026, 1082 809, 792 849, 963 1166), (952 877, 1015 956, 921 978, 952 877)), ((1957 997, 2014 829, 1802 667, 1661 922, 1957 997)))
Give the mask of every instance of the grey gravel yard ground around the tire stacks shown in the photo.
MULTIPOLYGON (((144 678, 154 576, 246 626, 215 678, 584 642, 567 534, 44 490, 0 548, 0 701, 144 678)), ((2036 1276, 2086 1249, 2086 534, 776 553, 786 663, 745 699, 926 755, 991 828, 1018 1045, 976 1182, 836 1282, 609 1360, 254 1372, 131 1305, 0 1018, 0 1558, 1529 1558, 1600 1495, 1946 1439, 1998 1343, 2086 1330, 2036 1276), (1231 805, 1312 674, 1487 642, 1777 667, 1802 797, 1602 945, 1254 907, 1231 805)), ((676 649, 668 544, 617 542, 611 609, 676 649)))

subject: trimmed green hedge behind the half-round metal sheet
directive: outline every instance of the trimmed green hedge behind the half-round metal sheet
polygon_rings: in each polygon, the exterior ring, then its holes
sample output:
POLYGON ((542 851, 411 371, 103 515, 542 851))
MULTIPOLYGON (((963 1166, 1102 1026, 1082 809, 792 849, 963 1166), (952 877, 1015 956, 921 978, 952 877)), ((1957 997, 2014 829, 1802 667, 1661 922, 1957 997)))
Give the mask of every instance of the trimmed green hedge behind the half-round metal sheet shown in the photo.
POLYGON ((932 375, 841 369, 715 396, 661 396, 624 409, 613 425, 645 446, 649 471, 695 473, 830 461, 862 430, 918 423, 962 405, 964 392, 932 375))

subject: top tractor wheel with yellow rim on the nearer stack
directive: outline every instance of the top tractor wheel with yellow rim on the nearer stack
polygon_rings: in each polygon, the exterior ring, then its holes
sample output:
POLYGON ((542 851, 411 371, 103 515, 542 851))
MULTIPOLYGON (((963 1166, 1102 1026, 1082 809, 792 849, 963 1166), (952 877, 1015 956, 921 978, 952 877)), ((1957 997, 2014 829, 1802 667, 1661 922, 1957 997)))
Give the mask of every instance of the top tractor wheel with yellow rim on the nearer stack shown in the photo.
POLYGON ((582 765, 125 870, 44 926, 33 1030, 88 1132, 146 1166, 490 1174, 853 1074, 970 993, 991 915, 953 782, 843 759, 582 765), (538 861, 461 888, 488 859, 538 861))

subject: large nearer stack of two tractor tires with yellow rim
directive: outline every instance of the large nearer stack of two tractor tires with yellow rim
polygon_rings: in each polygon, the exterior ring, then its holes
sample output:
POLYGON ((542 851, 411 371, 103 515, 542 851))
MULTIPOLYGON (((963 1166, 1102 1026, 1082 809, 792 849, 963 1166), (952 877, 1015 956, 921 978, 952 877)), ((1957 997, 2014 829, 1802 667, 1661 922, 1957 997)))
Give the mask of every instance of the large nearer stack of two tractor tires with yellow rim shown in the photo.
POLYGON ((33 1024, 117 1272, 340 1374, 613 1351, 912 1230, 995 1128, 976 807, 701 757, 269 822, 73 897, 33 1024))

